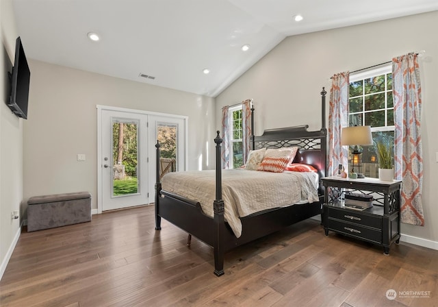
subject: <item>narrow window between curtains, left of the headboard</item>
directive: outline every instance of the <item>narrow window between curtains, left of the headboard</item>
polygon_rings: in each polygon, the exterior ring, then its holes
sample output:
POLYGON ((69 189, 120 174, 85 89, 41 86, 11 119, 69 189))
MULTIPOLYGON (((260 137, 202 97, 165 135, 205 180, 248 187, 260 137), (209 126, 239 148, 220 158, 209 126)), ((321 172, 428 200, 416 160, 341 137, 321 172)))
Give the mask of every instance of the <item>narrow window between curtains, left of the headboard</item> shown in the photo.
POLYGON ((243 159, 243 128, 242 128, 242 104, 229 108, 230 136, 229 148, 233 159, 229 161, 230 169, 237 169, 244 164, 243 159))

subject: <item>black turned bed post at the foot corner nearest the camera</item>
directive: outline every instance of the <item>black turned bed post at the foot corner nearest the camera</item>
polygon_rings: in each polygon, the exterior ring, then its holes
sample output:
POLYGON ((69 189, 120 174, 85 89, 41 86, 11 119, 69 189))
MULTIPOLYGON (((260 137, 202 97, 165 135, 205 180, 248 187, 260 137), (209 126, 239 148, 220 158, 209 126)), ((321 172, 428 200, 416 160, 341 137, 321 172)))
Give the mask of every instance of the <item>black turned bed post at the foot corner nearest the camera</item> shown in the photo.
POLYGON ((214 228, 216 230, 214 238, 214 274, 216 276, 224 275, 224 249, 223 249, 223 231, 224 221, 224 201, 222 200, 222 157, 221 149, 222 138, 219 131, 214 139, 216 143, 216 199, 214 200, 214 228))

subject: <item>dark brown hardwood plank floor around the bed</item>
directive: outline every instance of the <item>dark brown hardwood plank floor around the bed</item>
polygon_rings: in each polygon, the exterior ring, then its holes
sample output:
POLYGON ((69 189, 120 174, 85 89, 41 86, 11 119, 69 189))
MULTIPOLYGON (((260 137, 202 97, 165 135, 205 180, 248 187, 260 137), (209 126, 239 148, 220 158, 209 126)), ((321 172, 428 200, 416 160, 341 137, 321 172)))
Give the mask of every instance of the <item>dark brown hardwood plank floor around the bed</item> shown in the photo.
POLYGON ((385 256, 368 243, 324 236, 307 220, 230 251, 217 278, 211 247, 196 238, 187 247, 187 234, 167 221, 155 231, 153 212, 144 206, 24 229, 0 305, 438 306, 436 250, 400 243, 385 256), (390 289, 395 299, 387 299, 390 289))

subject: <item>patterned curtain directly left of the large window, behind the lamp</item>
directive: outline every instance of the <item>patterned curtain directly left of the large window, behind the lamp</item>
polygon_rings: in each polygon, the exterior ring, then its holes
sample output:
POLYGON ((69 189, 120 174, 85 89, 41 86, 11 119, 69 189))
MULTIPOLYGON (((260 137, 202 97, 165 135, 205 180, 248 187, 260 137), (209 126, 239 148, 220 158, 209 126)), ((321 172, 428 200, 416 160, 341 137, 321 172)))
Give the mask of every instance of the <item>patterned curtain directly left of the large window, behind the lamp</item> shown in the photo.
POLYGON ((348 149, 341 146, 341 132, 348 127, 348 88, 350 73, 337 73, 331 78, 329 104, 329 176, 337 175, 339 164, 348 169, 348 149))

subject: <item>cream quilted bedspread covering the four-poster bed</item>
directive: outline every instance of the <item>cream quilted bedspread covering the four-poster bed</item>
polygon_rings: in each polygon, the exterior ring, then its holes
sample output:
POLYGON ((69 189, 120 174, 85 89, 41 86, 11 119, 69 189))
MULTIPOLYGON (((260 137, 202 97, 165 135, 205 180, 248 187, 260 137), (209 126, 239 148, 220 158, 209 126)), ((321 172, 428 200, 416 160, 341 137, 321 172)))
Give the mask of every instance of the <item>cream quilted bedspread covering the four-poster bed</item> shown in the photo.
MULTIPOLYGON (((182 197, 199 201, 203 212, 214 216, 216 198, 215 171, 184 171, 163 177, 162 189, 182 197)), ((285 171, 270 173, 244 169, 222 171, 222 199, 224 218, 237 238, 242 234, 239 217, 270 208, 298 202, 318 201, 318 174, 285 171)))

